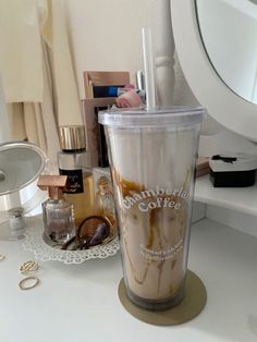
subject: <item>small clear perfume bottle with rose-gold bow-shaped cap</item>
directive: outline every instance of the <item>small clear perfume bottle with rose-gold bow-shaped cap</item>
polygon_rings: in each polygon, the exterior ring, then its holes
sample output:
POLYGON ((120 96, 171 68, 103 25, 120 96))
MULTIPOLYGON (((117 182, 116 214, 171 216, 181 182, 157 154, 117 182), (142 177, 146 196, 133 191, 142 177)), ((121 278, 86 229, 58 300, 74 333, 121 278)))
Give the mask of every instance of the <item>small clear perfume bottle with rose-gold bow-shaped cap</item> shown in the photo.
POLYGON ((37 183, 49 195, 42 203, 45 235, 60 244, 75 234, 73 205, 62 196, 66 180, 66 175, 40 175, 37 183))

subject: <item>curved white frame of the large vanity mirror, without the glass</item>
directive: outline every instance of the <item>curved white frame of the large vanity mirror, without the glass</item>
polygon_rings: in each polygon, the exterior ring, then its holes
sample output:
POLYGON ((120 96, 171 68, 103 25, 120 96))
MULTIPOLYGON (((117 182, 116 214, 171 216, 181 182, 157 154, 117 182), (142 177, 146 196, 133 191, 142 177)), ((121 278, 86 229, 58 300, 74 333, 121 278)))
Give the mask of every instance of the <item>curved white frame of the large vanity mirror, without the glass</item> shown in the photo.
POLYGON ((176 53, 185 78, 208 113, 228 130, 257 142, 257 105, 233 93, 206 53, 195 0, 170 0, 176 53))

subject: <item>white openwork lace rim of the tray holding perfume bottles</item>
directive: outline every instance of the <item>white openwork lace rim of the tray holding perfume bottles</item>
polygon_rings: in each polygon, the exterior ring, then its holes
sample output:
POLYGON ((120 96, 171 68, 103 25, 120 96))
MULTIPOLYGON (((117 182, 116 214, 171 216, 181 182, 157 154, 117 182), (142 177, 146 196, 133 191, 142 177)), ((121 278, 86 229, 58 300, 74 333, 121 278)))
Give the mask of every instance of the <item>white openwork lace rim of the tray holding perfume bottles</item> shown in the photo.
POLYGON ((105 245, 94 246, 85 251, 62 251, 49 246, 42 239, 42 224, 27 227, 23 247, 33 252, 41 261, 58 260, 64 264, 82 264, 94 258, 107 258, 120 249, 118 236, 105 245))

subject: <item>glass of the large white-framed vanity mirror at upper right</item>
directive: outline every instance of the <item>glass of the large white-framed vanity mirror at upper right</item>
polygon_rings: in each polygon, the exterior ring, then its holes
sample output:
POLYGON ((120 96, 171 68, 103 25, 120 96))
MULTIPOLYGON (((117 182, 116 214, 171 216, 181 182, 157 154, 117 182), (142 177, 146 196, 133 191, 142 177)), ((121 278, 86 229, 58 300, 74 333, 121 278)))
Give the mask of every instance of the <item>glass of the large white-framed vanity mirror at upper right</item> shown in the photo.
POLYGON ((196 0, 200 35, 217 74, 257 103, 257 0, 196 0))

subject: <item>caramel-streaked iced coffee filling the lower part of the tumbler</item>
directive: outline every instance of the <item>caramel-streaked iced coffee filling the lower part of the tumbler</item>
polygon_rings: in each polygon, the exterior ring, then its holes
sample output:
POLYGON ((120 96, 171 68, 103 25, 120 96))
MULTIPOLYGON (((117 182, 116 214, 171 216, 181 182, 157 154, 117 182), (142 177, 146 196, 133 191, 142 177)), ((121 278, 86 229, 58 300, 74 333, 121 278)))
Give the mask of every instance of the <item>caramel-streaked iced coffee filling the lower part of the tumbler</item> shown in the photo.
POLYGON ((189 217, 188 193, 183 187, 144 190, 117 173, 113 180, 121 208, 120 233, 128 295, 145 307, 152 307, 156 302, 179 302, 186 270, 187 256, 183 249, 189 217))

